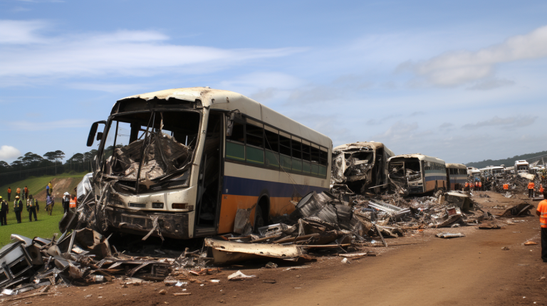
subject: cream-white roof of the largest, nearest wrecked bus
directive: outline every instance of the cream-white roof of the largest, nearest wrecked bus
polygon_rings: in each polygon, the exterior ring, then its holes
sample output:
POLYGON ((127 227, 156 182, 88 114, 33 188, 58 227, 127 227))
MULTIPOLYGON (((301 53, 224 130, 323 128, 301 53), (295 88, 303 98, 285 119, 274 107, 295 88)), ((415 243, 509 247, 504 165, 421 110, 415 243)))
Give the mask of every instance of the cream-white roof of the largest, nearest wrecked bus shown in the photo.
POLYGON ((118 102, 131 99, 152 100, 154 98, 165 100, 173 98, 186 101, 195 101, 199 99, 204 107, 210 107, 211 109, 217 110, 239 110, 244 115, 261 120, 268 125, 277 127, 279 130, 284 130, 285 132, 308 139, 311 142, 316 142, 327 149, 333 147, 333 141, 320 132, 312 130, 285 115, 281 115, 279 112, 276 112, 249 97, 229 90, 218 90, 207 87, 174 88, 152 93, 142 93, 140 95, 131 95, 118 100, 118 102))

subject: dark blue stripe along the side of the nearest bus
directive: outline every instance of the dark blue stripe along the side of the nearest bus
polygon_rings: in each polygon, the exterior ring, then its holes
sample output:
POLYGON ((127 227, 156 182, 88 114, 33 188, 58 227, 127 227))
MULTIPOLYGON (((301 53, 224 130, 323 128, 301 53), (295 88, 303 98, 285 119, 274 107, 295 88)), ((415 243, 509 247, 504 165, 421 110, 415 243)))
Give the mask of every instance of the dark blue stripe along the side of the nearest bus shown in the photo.
POLYGON ((236 176, 224 176, 222 189, 222 194, 231 194, 234 196, 260 196, 264 191, 268 191, 269 196, 274 198, 306 196, 306 194, 311 191, 316 191, 319 194, 328 190, 327 188, 318 186, 261 181, 259 179, 244 179, 236 176))

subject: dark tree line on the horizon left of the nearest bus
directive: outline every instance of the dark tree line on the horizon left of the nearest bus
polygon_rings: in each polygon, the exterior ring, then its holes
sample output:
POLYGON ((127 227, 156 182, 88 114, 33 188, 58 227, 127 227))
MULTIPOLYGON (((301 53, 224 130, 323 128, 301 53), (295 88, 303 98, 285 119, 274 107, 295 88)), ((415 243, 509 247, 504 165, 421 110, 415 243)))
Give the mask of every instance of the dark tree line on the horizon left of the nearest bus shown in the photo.
POLYGON ((71 172, 91 172, 91 161, 95 159, 97 150, 76 153, 66 159, 61 150, 46 152, 43 156, 28 152, 18 157, 11 164, 0 161, 0 186, 14 181, 26 179, 29 176, 56 175, 71 172))

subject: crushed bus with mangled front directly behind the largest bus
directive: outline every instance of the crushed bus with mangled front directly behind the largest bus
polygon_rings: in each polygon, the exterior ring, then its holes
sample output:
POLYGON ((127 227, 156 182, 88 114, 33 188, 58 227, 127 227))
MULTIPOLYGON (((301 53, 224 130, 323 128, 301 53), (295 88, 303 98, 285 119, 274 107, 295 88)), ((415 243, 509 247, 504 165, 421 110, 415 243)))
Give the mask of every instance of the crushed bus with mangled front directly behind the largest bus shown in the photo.
POLYGON ((354 142, 333 149, 330 181, 345 184, 355 194, 387 189, 387 159, 395 154, 381 142, 354 142))

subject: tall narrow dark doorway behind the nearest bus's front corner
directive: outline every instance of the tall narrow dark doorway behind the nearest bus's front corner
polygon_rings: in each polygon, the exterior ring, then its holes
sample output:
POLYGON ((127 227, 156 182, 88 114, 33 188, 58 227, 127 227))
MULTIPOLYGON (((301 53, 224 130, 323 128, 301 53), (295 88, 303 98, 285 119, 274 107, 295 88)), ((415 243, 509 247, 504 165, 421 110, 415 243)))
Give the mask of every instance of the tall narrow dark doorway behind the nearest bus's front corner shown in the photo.
POLYGON ((217 233, 221 203, 224 164, 222 161, 222 132, 224 115, 209 112, 207 133, 199 167, 196 201, 196 226, 194 236, 209 236, 217 233))

